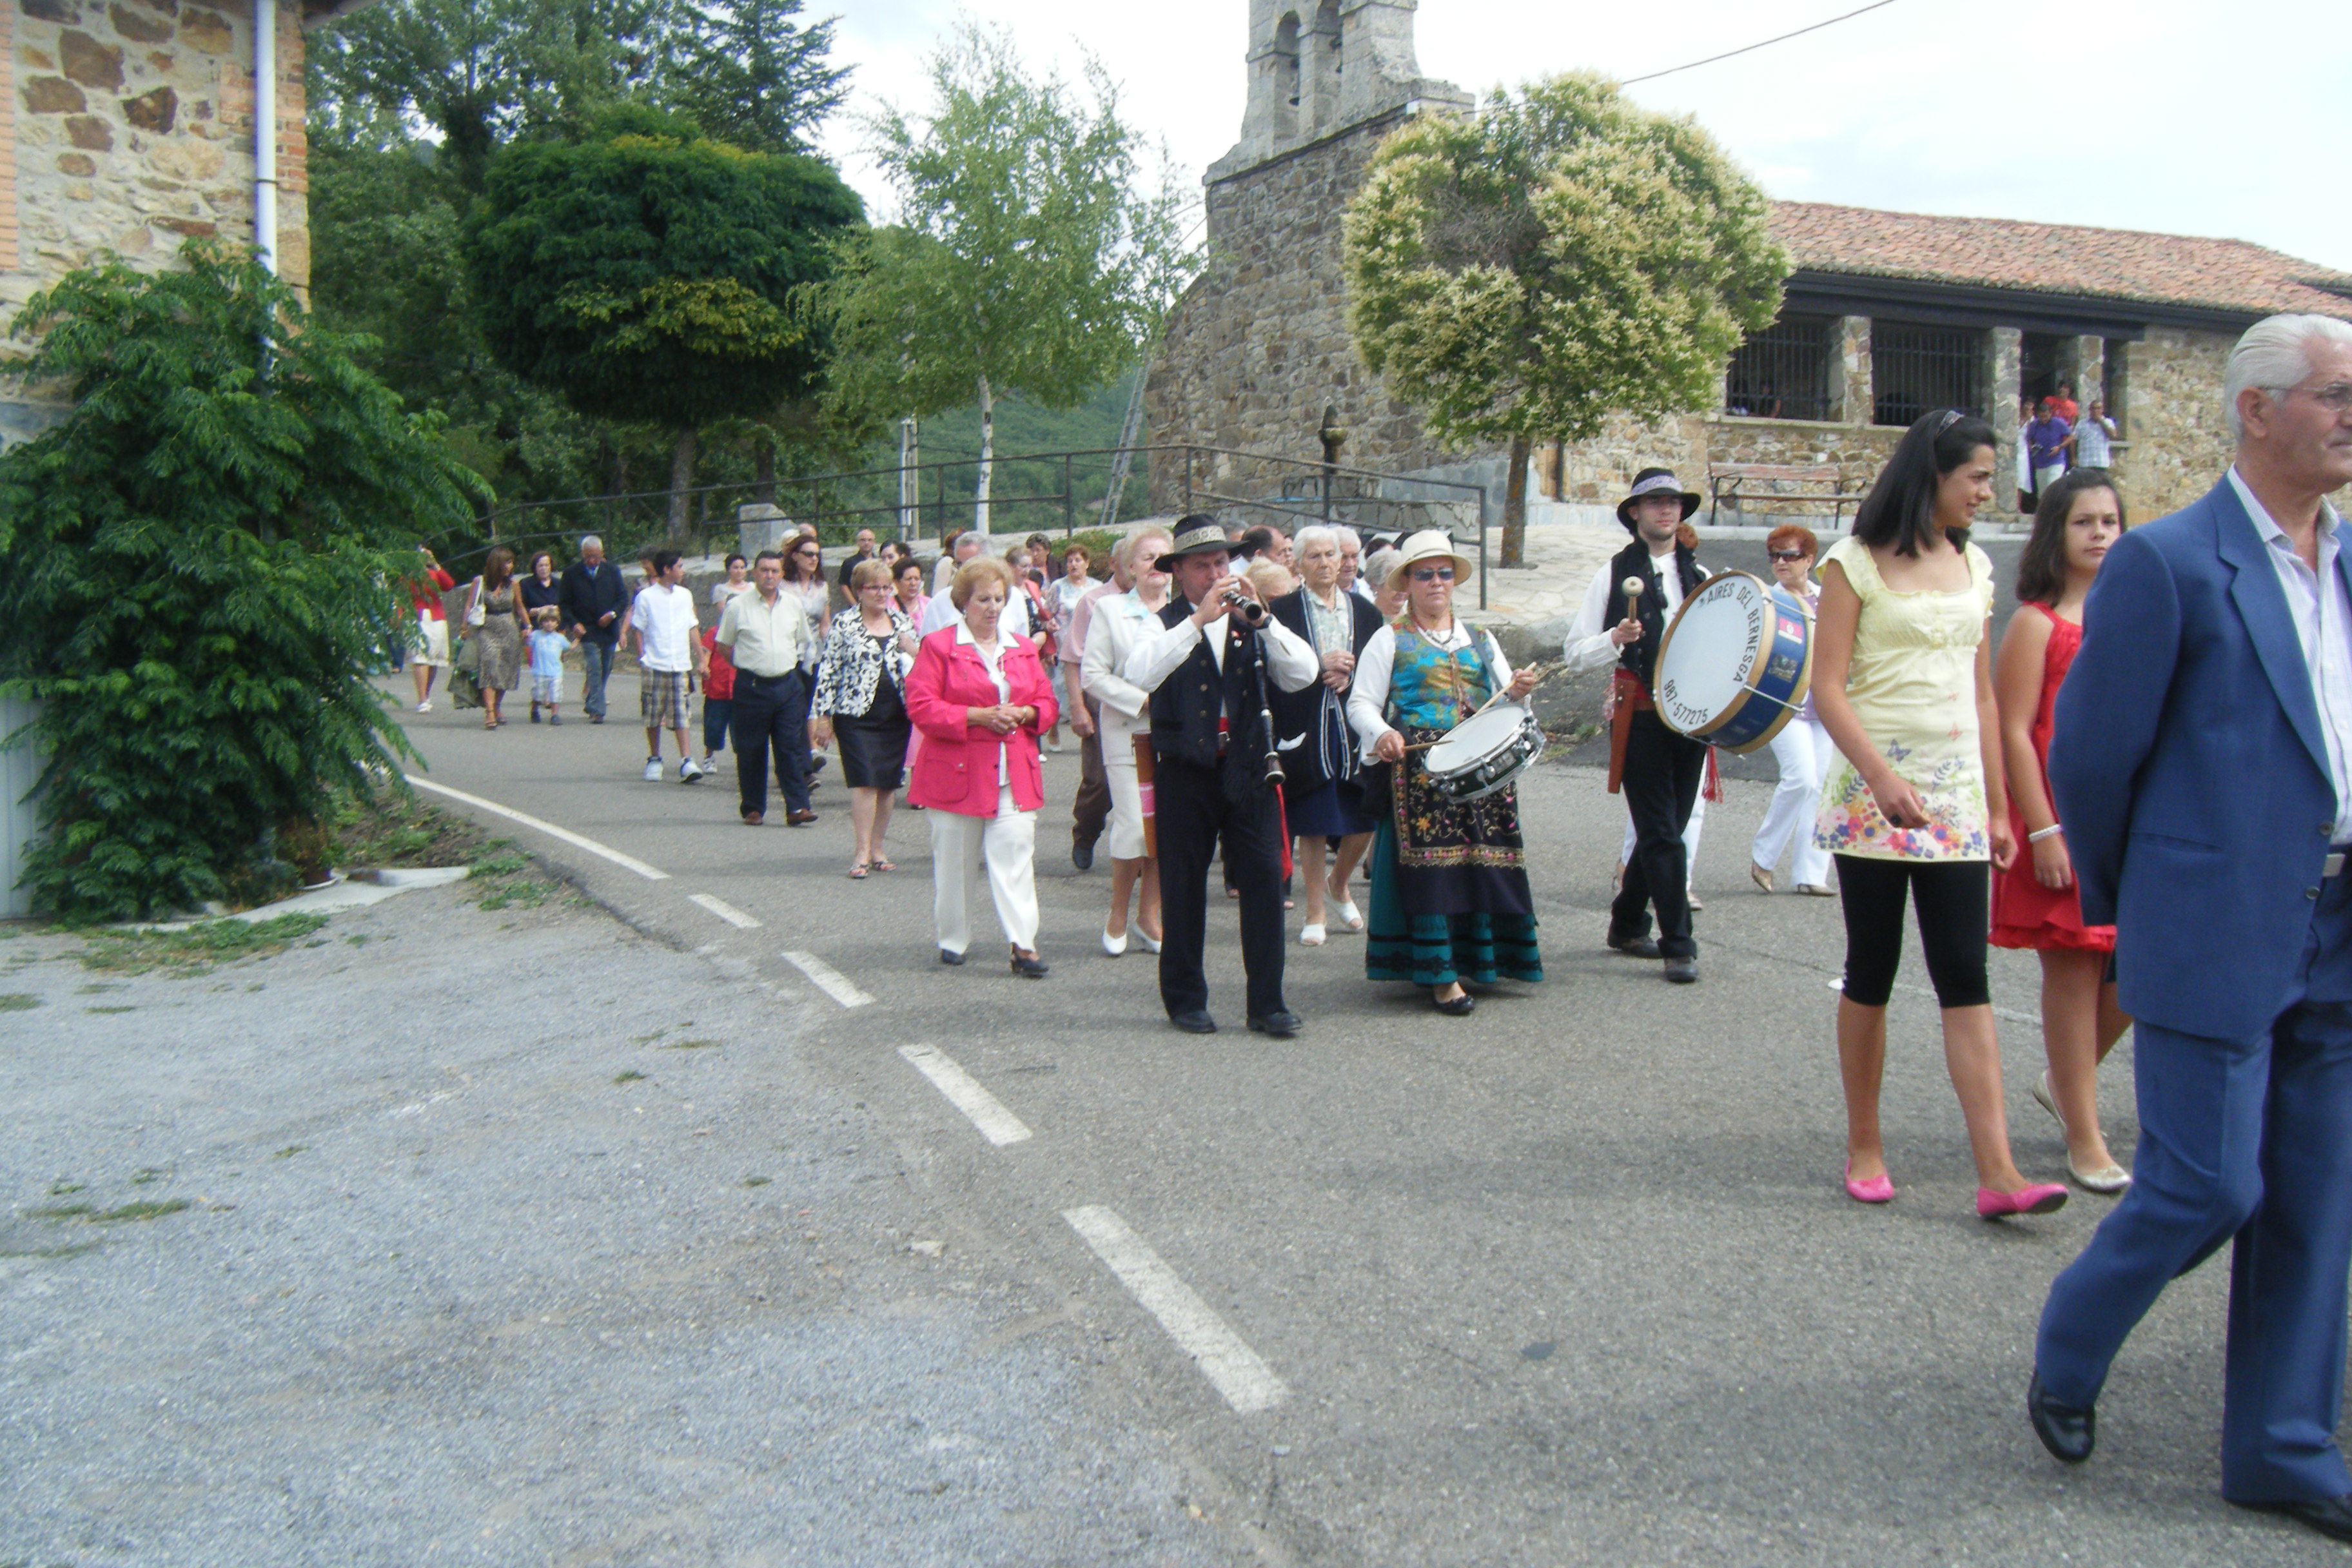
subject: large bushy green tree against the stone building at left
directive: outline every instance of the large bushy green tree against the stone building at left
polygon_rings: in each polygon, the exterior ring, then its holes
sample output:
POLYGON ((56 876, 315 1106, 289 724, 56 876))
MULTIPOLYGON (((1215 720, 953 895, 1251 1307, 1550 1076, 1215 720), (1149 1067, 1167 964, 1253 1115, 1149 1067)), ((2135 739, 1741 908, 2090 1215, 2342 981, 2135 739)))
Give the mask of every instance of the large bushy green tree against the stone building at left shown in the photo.
POLYGON ((181 256, 71 273, 12 324, 16 374, 75 404, 0 454, 0 689, 47 752, 26 882, 73 922, 221 898, 409 755, 369 670, 416 538, 477 491, 252 256, 181 256))

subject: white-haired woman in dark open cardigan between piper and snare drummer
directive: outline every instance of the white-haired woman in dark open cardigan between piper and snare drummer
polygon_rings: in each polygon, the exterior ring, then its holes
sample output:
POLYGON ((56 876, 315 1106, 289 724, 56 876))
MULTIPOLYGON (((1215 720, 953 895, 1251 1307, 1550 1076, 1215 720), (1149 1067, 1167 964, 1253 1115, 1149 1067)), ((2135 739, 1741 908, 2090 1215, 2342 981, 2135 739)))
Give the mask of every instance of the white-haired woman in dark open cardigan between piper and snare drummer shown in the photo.
POLYGON ((1338 529, 1298 529, 1301 588, 1272 602, 1275 618, 1305 637, 1324 675, 1305 691, 1275 691, 1275 748, 1282 755, 1282 799, 1294 835, 1294 863, 1308 893, 1308 919, 1298 940, 1322 947, 1329 912, 1348 931, 1364 929, 1364 914, 1348 896, 1348 877, 1371 849, 1374 818, 1364 813, 1362 759, 1348 731, 1348 684, 1355 656, 1376 630, 1381 611, 1338 585, 1338 529), (1324 839, 1338 839, 1338 860, 1324 872, 1324 839))

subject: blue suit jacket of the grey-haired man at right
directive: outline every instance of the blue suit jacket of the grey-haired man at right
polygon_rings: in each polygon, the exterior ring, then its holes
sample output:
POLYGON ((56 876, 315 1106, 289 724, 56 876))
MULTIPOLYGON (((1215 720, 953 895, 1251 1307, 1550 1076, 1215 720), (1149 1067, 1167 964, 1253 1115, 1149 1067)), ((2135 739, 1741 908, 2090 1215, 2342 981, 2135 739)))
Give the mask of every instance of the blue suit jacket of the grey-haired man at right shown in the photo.
MULTIPOLYGON (((2347 567, 2352 550, 2352 585, 2347 567)), ((2136 1018, 2251 1039, 2303 964, 2336 785, 2286 592, 2230 482, 2124 534, 2082 628, 2049 759, 2082 917, 2114 924, 2136 1018)), ((2352 997, 2352 973, 2312 983, 2352 997)))

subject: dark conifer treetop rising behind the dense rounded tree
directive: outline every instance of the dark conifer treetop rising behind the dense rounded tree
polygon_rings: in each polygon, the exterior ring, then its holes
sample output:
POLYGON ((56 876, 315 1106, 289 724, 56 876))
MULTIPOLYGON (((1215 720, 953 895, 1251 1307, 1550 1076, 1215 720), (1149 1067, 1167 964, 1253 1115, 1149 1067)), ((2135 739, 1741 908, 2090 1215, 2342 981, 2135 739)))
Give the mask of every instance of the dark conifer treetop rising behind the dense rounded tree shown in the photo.
POLYGON ((809 132, 849 94, 826 63, 833 19, 800 26, 800 0, 710 0, 684 9, 654 101, 746 153, 807 153, 809 132))

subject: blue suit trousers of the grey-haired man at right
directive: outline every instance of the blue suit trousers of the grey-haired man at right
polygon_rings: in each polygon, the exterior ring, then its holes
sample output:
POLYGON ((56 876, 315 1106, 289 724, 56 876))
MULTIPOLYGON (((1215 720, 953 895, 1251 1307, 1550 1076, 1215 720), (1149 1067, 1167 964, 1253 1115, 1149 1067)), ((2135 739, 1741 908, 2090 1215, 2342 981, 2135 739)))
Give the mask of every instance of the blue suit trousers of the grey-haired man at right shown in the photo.
POLYGON ((2237 1502, 2352 1490, 2336 1446, 2352 1267, 2352 1001, 2312 999, 2314 959, 2352 922, 2347 882, 2331 879, 2312 907, 2305 964, 2265 1032, 2206 1039, 2133 1025, 2131 1187, 2051 1286, 2034 1340, 2051 1399, 2091 1406, 2164 1286, 2232 1244, 2220 1490, 2237 1502))

